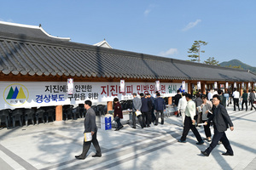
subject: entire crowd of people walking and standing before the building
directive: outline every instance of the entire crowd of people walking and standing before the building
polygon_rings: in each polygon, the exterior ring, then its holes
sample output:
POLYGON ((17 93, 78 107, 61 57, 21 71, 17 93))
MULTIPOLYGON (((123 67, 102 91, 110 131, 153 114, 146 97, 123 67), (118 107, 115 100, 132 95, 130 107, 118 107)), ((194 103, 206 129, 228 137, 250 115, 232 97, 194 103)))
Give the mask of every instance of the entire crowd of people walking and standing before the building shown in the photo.
MULTIPOLYGON (((136 128, 136 117, 140 126, 150 127, 151 123, 154 123, 154 126, 157 126, 159 123, 159 118, 161 118, 161 124, 164 124, 164 111, 166 110, 165 100, 160 97, 158 92, 155 93, 156 98, 152 97, 150 94, 140 94, 140 98, 137 97, 137 94, 133 94, 132 101, 132 127, 136 128)), ((211 142, 209 147, 206 150, 201 150, 203 156, 209 156, 212 150, 216 147, 217 144, 224 144, 226 152, 222 155, 224 156, 234 156, 234 151, 230 145, 230 141, 227 138, 225 131, 230 128, 231 131, 234 130, 233 122, 230 119, 230 116, 226 110, 226 106, 231 104, 230 96, 233 98, 234 102, 234 111, 239 107, 239 99, 241 97, 241 110, 243 110, 243 105, 247 103, 252 105, 251 111, 253 108, 256 111, 253 103, 255 102, 256 95, 255 90, 252 89, 249 94, 247 91, 243 91, 243 94, 240 95, 239 92, 234 89, 233 93, 223 93, 223 90, 207 90, 207 94, 201 94, 201 91, 195 95, 193 99, 192 94, 181 94, 177 90, 177 94, 174 96, 174 106, 177 108, 177 116, 182 116, 182 126, 183 134, 178 142, 185 143, 189 130, 195 134, 197 139, 196 144, 204 144, 204 139, 201 138, 201 134, 198 133, 196 126, 203 126, 206 138, 208 142, 211 142), (249 101, 249 102, 248 102, 249 101), (213 125, 214 134, 212 136, 210 125, 213 125)), ((84 102, 84 108, 87 110, 87 114, 84 118, 84 144, 82 153, 78 156, 75 156, 77 159, 84 159, 87 155, 88 150, 90 149, 90 144, 92 143, 96 148, 96 155, 93 157, 101 157, 102 151, 101 147, 96 139, 97 127, 96 127, 96 114, 95 111, 91 109, 91 101, 86 100, 84 102), (85 136, 90 133, 90 140, 87 141, 85 136)), ((123 125, 120 122, 120 119, 123 118, 122 106, 119 104, 119 99, 113 99, 113 116, 114 121, 117 122, 116 131, 121 129, 123 125)))

